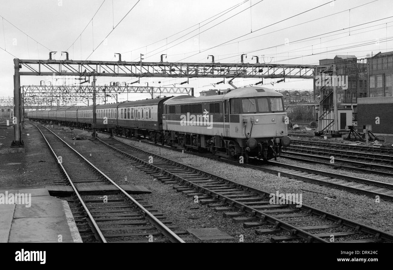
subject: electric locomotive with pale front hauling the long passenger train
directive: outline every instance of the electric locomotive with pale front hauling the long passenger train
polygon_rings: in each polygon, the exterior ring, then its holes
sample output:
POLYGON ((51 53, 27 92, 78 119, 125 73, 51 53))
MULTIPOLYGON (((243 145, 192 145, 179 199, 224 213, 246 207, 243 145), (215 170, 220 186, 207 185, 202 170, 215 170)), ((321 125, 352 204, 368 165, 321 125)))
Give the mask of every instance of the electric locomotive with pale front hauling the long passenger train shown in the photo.
POLYGON ((283 95, 244 87, 222 95, 173 97, 164 102, 165 142, 220 156, 277 158, 290 145, 283 95))

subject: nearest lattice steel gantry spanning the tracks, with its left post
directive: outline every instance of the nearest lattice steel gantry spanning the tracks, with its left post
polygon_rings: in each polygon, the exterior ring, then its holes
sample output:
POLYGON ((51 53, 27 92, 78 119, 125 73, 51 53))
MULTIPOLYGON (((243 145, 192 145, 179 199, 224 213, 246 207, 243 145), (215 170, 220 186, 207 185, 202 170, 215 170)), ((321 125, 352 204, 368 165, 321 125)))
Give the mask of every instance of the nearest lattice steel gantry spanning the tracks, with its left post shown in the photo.
MULTIPOLYGON (((171 63, 83 60, 14 59, 15 140, 11 148, 23 148, 20 76, 105 76, 188 78, 303 78, 313 79, 325 66, 266 63, 171 63)), ((94 100, 95 100, 94 86, 94 100)))

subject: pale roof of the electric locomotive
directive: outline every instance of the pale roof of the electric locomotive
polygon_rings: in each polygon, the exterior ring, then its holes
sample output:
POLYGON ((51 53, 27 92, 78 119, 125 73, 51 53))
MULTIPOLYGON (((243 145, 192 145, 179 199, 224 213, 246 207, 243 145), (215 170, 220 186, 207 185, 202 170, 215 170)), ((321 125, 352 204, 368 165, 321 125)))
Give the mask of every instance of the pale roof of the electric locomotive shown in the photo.
POLYGON ((214 95, 214 96, 201 96, 201 97, 188 97, 188 98, 176 98, 173 97, 165 101, 166 105, 176 105, 176 104, 187 104, 187 103, 203 103, 203 102, 216 102, 221 101, 224 98, 236 98, 236 97, 282 97, 283 94, 276 92, 273 89, 265 87, 242 87, 236 88, 227 92, 224 95, 214 95))

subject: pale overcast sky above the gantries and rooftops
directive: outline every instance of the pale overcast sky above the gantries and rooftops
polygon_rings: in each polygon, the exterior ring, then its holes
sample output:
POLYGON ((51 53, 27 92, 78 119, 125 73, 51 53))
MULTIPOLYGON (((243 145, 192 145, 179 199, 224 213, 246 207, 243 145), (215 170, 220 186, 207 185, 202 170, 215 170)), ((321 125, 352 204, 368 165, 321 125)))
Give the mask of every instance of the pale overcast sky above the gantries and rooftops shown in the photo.
MULTIPOLYGON (((93 23, 90 22, 82 33, 102 2, 103 0, 1 0, 0 16, 3 18, 0 18, 0 97, 13 96, 13 58, 48 59, 50 49, 59 51, 55 59, 64 59, 60 52, 68 48, 70 59, 85 60, 137 0, 105 0, 93 23)), ((159 61, 160 54, 166 53, 166 61, 169 62, 207 62, 210 61, 207 60, 208 55, 215 55, 216 62, 233 63, 240 62, 240 54, 257 50, 248 54, 245 62, 255 62, 251 57, 258 55, 260 62, 318 64, 319 59, 333 58, 337 54, 356 55, 360 59, 371 52, 375 54, 379 51, 393 51, 393 17, 380 20, 393 16, 391 0, 336 0, 290 18, 327 2, 329 1, 140 0, 88 60, 116 61, 114 53, 122 53, 123 61, 139 61, 139 55, 143 53, 143 61, 159 61), (242 2, 244 4, 233 10, 221 13, 242 2), (357 7, 362 4, 365 5, 357 7), (249 8, 250 5, 254 6, 249 8), (243 11, 244 9, 246 10, 243 11), (351 10, 346 11, 348 9, 351 10), (217 18, 215 15, 219 13, 222 17, 217 18), (236 13, 239 14, 235 15, 236 13), (338 14, 332 15, 334 13, 338 14), (210 17, 217 19, 213 22, 210 22, 212 19, 206 20, 210 17), (223 20, 225 21, 222 22, 223 20), (284 21, 269 26, 280 20, 284 21), (308 22, 310 20, 314 21, 308 22), (378 21, 372 22, 375 20, 378 21), (219 22, 221 23, 214 26, 219 22), (304 22, 308 23, 302 24, 304 22), (206 23, 208 24, 203 26, 206 23), (301 25, 294 26, 296 24, 301 25), (357 26, 360 24, 363 25, 357 26), (193 27, 187 29, 191 26, 193 27), (204 31, 211 26, 214 27, 204 31), (269 27, 264 28, 265 26, 269 27), (350 26, 351 29, 344 29, 350 26), (264 29, 258 30, 260 28, 264 29), (336 31, 339 29, 344 30, 336 31), (182 30, 185 31, 172 36, 182 30), (272 31, 275 32, 270 33, 272 31), (199 32, 203 33, 199 35, 199 32), (186 36, 182 37, 183 35, 186 36), (193 37, 194 35, 196 36, 193 37), (242 35, 246 36, 198 53, 199 50, 203 51, 242 35), (314 37, 317 35, 320 36, 314 37), (179 37, 182 38, 173 42, 179 37), (305 41, 294 42, 300 39, 305 41), (184 42, 177 44, 181 41, 184 42), (369 44, 363 45, 366 42, 369 44), (286 45, 279 46, 285 43, 286 45), (173 48, 170 48, 172 46, 173 48), (268 47, 273 48, 266 49, 268 47), (195 53, 197 54, 194 55, 195 53)), ((24 76, 21 77, 21 85, 39 85, 43 79, 45 78, 39 76, 24 76)), ((144 86, 145 82, 149 82, 149 86, 158 86, 159 80, 162 81, 161 86, 185 81, 184 78, 144 78, 140 85, 144 86)), ((194 87, 195 93, 211 88, 230 87, 228 84, 216 87, 209 85, 221 80, 190 79, 189 84, 182 86, 194 87)), ((110 81, 131 82, 135 81, 135 78, 99 77, 97 84, 108 84, 110 81)), ((233 82, 237 86, 245 86, 258 81, 260 80, 235 79, 233 82)), ((274 86, 270 81, 277 79, 265 79, 266 87, 312 88, 312 80, 287 79, 285 83, 275 83, 274 86)), ((73 84, 77 83, 77 80, 69 77, 65 83, 73 84)), ((148 95, 134 94, 129 99, 145 97, 148 95)))

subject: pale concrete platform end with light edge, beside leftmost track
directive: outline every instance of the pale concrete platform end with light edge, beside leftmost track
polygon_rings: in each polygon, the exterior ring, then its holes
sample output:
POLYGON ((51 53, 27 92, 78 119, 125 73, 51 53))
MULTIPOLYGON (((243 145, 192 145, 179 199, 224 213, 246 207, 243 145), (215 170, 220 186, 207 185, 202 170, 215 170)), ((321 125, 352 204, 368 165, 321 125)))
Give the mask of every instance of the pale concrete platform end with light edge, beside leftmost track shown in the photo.
POLYGON ((0 188, 0 217, 0 242, 82 242, 68 203, 46 188, 0 188))

